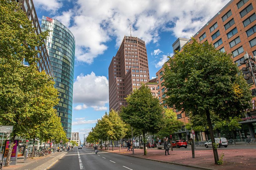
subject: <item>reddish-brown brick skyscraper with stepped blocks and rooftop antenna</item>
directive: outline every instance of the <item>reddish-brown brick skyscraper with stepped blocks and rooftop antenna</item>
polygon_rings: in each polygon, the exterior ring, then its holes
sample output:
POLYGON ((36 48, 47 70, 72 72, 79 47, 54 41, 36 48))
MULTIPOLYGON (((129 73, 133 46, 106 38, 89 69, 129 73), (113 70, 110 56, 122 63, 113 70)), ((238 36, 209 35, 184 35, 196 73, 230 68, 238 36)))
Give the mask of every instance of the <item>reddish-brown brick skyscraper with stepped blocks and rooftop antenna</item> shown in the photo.
POLYGON ((141 83, 149 82, 149 65, 145 41, 133 36, 124 36, 108 67, 109 110, 120 111, 127 105, 124 99, 141 83))

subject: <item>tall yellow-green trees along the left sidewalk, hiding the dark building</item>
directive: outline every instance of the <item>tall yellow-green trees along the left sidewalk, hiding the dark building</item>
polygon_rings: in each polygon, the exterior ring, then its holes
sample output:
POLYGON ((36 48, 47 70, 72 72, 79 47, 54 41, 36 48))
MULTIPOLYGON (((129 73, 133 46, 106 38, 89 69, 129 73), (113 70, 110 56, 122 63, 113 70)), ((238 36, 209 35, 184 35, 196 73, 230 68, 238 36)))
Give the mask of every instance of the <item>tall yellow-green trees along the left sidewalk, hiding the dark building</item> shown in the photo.
POLYGON ((15 137, 58 143, 66 135, 54 109, 59 99, 53 78, 37 68, 36 49, 48 32, 37 35, 14 1, 0 1, 0 16, 0 124, 13 126, 5 165, 9 166, 15 137), (29 66, 23 66, 23 60, 29 66))

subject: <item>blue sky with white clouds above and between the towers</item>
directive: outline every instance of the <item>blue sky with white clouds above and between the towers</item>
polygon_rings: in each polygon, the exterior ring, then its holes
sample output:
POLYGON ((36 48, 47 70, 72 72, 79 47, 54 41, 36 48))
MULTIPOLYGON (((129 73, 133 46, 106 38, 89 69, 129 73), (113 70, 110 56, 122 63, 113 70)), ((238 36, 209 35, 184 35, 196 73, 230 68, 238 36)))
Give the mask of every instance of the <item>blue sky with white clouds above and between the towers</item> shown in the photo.
POLYGON ((37 16, 56 18, 76 38, 72 132, 87 136, 108 108, 108 66, 125 35, 146 42, 149 75, 229 0, 33 0, 37 16))

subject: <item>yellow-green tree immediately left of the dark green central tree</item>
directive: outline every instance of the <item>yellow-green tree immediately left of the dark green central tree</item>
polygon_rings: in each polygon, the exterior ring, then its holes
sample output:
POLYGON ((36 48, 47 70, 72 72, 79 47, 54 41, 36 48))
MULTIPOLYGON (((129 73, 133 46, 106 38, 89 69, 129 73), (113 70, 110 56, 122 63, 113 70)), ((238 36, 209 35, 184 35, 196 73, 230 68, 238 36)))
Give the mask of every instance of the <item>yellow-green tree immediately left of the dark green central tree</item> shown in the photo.
POLYGON ((105 131, 107 137, 112 140, 112 150, 114 150, 114 140, 121 139, 125 136, 127 129, 125 123, 121 120, 120 116, 113 109, 109 114, 102 117, 102 130, 105 131))

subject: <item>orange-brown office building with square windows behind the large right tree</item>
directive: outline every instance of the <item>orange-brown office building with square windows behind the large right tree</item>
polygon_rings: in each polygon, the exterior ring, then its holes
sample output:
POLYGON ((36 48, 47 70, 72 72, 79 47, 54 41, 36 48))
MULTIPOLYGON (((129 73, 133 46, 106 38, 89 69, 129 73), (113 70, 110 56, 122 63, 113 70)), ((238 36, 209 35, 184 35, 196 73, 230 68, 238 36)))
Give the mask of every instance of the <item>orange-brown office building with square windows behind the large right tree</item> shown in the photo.
MULTIPOLYGON (((251 56, 256 56, 256 1, 255 0, 231 0, 227 3, 209 22, 206 23, 194 36, 197 41, 208 41, 216 49, 227 53, 232 53, 234 63, 241 69, 240 61, 244 60, 245 52, 251 56)), ((188 41, 190 42, 191 39, 188 41)), ((175 49, 175 48, 174 48, 175 49)), ((156 75, 159 85, 159 94, 166 89, 161 87, 160 69, 156 75)), ((248 80, 248 84, 253 80, 248 80)), ((242 122, 242 129, 236 131, 236 138, 255 138, 256 136, 256 89, 252 86, 253 110, 245 115, 242 122)), ((187 115, 177 112, 177 117, 184 118, 187 123, 187 115)), ((201 136, 203 136, 201 134, 201 136)), ((216 135, 218 136, 218 135, 216 135)), ((204 138, 204 137, 203 137, 204 138)))

